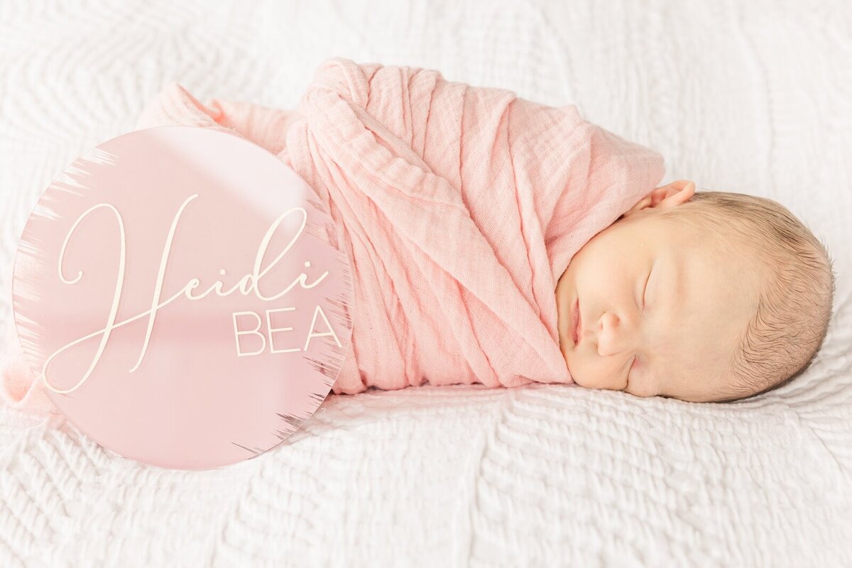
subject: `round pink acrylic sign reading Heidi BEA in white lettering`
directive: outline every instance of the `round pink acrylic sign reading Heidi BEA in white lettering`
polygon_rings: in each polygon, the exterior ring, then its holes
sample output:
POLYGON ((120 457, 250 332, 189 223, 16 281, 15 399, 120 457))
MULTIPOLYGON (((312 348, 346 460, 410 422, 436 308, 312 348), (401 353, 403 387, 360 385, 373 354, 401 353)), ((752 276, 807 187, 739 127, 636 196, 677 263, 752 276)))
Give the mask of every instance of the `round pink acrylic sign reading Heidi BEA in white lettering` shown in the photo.
POLYGON ((74 161, 14 264, 18 336, 49 398, 99 444, 164 468, 249 459, 308 420, 348 350, 352 294, 305 181, 191 126, 74 161))

